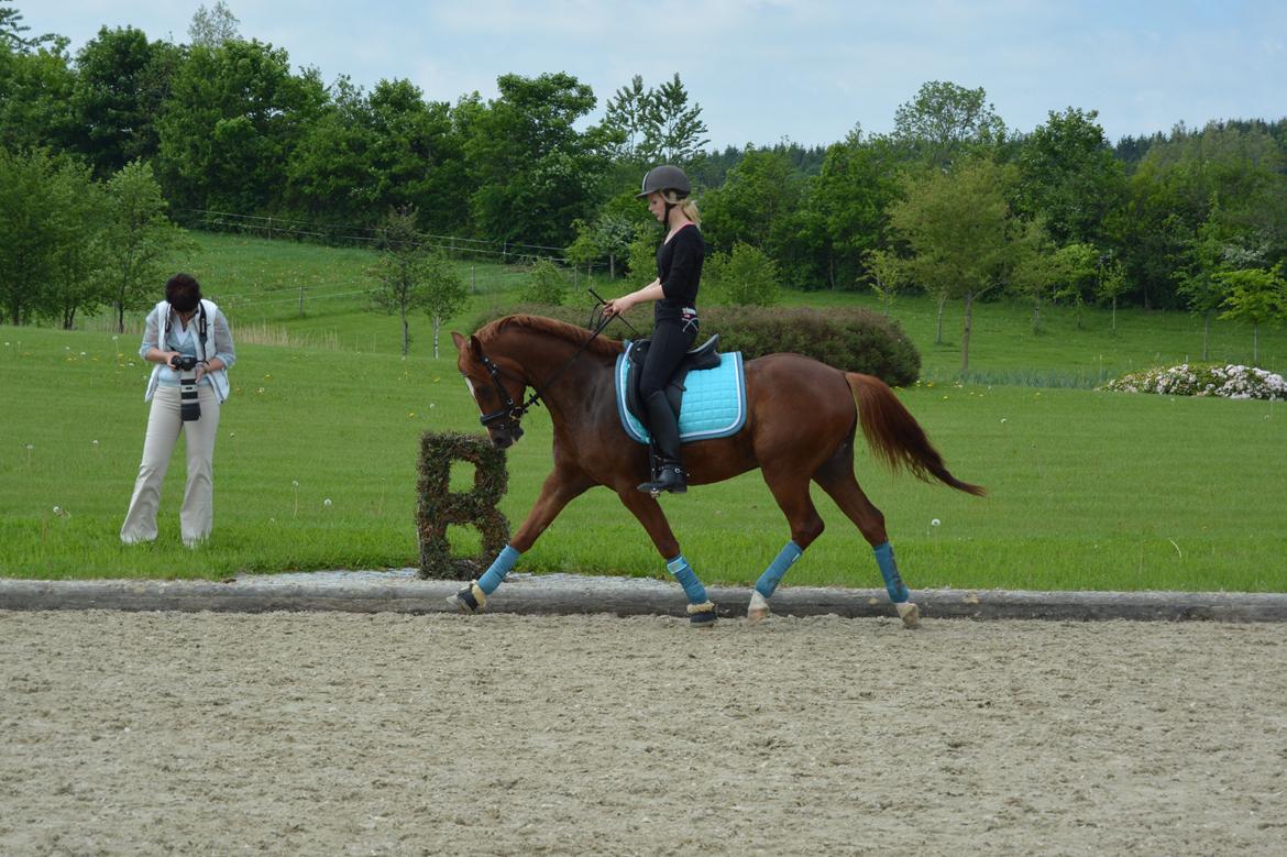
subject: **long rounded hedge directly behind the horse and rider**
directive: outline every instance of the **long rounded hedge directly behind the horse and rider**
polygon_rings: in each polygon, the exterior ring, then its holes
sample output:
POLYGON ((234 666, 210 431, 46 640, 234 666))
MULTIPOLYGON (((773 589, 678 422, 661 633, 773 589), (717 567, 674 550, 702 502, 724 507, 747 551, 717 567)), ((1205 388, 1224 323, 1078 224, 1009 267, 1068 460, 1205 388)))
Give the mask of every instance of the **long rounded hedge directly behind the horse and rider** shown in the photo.
MULTIPOLYGON (((546 315, 586 327, 588 308, 520 304, 508 310, 493 309, 480 315, 474 329, 488 322, 524 313, 546 315)), ((721 351, 741 351, 748 360, 794 351, 848 372, 874 374, 891 386, 909 386, 920 377, 920 353, 897 322, 865 309, 709 306, 699 309, 701 337, 719 335, 721 351)), ((644 304, 627 313, 631 331, 614 319, 604 331, 613 338, 638 338, 653 329, 653 306, 644 304)))

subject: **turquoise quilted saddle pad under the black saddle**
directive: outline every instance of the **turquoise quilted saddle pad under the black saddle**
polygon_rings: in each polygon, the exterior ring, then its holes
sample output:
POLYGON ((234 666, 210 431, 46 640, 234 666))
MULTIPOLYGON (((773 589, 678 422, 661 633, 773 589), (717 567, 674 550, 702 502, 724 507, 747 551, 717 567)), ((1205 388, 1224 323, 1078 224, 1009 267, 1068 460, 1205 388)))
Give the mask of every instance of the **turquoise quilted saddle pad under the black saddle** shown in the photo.
MULTIPOLYGON (((616 358, 616 413, 631 440, 646 444, 651 440, 647 428, 625 407, 625 373, 629 368, 629 349, 616 358)), ((680 441, 727 438, 741 431, 746 423, 746 373, 741 351, 719 355, 719 365, 713 369, 689 372, 683 378, 683 403, 680 408, 680 441)))

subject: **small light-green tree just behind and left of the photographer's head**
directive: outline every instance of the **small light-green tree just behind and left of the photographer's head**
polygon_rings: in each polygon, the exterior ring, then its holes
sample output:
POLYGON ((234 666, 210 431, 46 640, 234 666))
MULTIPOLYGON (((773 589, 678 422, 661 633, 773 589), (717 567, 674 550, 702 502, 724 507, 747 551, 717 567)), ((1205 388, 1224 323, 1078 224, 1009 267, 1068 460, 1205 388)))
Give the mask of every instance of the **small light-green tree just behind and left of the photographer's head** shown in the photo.
POLYGON ((107 181, 106 192, 100 277, 116 310, 116 328, 124 333, 126 310, 148 306, 169 260, 187 238, 166 216, 169 206, 149 163, 126 163, 107 181))

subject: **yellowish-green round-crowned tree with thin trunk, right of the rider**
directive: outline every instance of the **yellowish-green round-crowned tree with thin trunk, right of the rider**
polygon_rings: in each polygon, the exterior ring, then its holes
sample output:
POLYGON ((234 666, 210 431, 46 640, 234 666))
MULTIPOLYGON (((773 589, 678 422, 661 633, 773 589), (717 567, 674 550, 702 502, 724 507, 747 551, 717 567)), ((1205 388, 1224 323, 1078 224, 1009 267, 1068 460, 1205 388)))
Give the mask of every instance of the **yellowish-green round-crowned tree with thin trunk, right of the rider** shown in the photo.
POLYGON ((906 199, 891 210, 891 225, 907 242, 909 278, 938 296, 965 304, 961 320, 961 376, 969 369, 974 300, 1001 286, 1014 257, 1017 221, 1006 198, 1014 169, 974 158, 954 172, 909 180, 906 199))

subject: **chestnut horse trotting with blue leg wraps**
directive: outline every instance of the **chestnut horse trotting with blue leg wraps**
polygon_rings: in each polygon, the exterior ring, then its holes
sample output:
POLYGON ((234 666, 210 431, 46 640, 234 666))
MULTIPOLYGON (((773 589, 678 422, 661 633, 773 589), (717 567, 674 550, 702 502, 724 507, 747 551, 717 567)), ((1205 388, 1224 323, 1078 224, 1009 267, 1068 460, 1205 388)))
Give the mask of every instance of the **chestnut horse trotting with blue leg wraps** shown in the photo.
MULTIPOLYGON (((650 472, 646 445, 627 438, 616 408, 614 367, 623 344, 584 328, 534 315, 510 315, 468 338, 452 333, 457 365, 498 448, 521 435, 520 419, 543 400, 553 422, 553 472, 535 506, 495 562, 449 601, 476 613, 524 551, 562 508, 587 489, 604 485, 653 538, 667 569, 682 584, 694 624, 716 619, 714 605, 680 551, 656 498, 637 490, 650 472), (524 392, 535 394, 525 404, 524 392)), ((790 565, 822 533, 810 498, 817 483, 871 544, 889 598, 906 627, 918 623, 885 534, 884 515, 853 476, 853 436, 861 423, 867 445, 891 467, 906 467, 958 490, 982 495, 978 485, 952 476, 924 430, 879 378, 843 372, 798 354, 771 354, 745 363, 746 419, 737 434, 683 448, 690 485, 731 479, 759 467, 790 525, 790 540, 752 593, 748 619, 770 613, 768 598, 790 565)))

